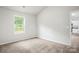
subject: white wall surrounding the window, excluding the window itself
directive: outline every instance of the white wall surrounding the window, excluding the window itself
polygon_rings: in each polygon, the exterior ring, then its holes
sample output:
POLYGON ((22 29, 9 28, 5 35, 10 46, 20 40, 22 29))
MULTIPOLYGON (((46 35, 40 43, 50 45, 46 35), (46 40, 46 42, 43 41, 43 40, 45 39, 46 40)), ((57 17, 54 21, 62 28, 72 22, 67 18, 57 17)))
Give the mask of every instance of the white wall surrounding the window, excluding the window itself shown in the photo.
POLYGON ((30 14, 24 14, 8 9, 0 8, 0 45, 18 40, 24 40, 37 36, 36 33, 36 17, 30 14), (14 33, 14 15, 20 15, 25 17, 26 31, 22 34, 14 33))

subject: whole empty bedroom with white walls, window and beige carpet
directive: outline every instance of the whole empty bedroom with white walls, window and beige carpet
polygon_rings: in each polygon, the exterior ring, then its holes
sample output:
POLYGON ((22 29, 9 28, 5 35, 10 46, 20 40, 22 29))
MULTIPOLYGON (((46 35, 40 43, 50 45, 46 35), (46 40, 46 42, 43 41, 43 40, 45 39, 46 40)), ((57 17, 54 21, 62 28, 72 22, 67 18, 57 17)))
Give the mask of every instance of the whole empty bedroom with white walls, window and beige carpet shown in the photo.
POLYGON ((74 20, 79 6, 0 6, 0 53, 78 53, 74 20))

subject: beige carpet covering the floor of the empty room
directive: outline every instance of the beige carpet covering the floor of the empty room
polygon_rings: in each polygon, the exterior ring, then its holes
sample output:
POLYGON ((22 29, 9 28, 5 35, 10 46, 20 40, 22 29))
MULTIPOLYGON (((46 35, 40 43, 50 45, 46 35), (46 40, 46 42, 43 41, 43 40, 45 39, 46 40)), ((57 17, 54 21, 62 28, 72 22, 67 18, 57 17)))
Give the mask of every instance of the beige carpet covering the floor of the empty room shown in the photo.
POLYGON ((76 48, 34 38, 0 46, 1 53, 63 53, 79 52, 76 48))

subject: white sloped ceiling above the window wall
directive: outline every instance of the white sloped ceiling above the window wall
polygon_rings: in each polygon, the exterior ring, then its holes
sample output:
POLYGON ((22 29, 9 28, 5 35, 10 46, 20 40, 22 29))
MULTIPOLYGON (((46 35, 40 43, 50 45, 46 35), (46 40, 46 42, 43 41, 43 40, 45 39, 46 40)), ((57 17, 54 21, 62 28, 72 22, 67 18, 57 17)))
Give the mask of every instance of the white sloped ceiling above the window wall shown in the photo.
POLYGON ((29 14, 38 14, 41 10, 43 10, 44 6, 3 6, 3 8, 8 8, 11 10, 29 13, 29 14))

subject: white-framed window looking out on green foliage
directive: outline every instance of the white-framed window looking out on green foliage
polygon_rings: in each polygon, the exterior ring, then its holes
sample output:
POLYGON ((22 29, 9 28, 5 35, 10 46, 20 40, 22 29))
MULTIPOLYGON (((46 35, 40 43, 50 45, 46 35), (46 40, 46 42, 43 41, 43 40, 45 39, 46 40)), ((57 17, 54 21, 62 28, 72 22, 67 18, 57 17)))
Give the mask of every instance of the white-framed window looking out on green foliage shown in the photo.
POLYGON ((24 17, 22 16, 15 16, 14 21, 14 30, 15 33, 22 33, 24 32, 24 17))

